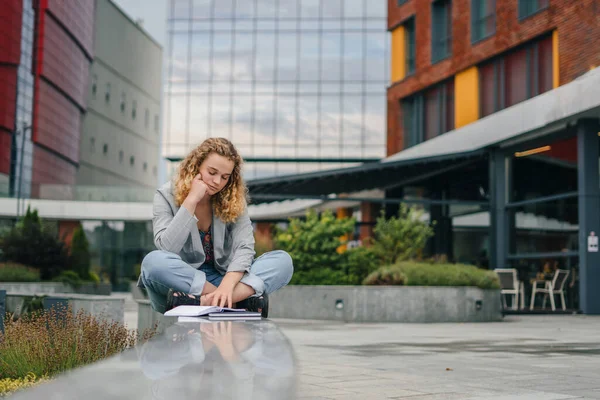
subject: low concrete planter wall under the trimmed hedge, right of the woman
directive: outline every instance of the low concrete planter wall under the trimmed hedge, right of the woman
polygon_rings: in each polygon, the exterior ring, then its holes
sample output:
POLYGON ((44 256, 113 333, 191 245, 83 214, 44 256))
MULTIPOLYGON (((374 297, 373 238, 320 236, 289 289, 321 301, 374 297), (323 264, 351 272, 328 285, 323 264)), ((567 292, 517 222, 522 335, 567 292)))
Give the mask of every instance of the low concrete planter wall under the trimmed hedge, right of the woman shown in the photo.
POLYGON ((502 320, 499 289, 425 286, 286 286, 269 297, 269 317, 346 322, 502 320))

